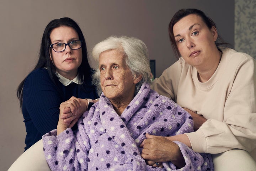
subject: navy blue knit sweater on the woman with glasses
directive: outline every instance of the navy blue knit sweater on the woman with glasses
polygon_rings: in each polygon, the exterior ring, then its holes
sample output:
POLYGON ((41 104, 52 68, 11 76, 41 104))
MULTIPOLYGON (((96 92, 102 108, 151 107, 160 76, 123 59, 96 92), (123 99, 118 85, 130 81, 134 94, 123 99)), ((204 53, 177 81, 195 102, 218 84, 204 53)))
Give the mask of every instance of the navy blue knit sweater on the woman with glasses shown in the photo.
POLYGON ((50 130, 56 129, 59 120, 60 103, 70 97, 98 98, 96 88, 87 83, 86 90, 78 84, 64 86, 58 81, 57 86, 50 79, 47 69, 32 71, 23 87, 22 113, 26 126, 25 151, 50 130))

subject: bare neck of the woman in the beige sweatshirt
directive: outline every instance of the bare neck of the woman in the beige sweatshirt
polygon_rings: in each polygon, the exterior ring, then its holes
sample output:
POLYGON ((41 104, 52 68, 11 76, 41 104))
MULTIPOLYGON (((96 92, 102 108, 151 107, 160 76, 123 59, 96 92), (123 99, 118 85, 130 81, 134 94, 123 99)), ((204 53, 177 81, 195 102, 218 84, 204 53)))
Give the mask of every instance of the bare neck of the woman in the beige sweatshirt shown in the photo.
POLYGON ((215 57, 216 58, 213 58, 213 60, 210 61, 209 65, 204 66, 203 69, 197 68, 197 77, 200 82, 206 82, 213 76, 213 74, 215 73, 216 69, 219 66, 222 57, 222 52, 218 50, 218 52, 216 52, 215 57))

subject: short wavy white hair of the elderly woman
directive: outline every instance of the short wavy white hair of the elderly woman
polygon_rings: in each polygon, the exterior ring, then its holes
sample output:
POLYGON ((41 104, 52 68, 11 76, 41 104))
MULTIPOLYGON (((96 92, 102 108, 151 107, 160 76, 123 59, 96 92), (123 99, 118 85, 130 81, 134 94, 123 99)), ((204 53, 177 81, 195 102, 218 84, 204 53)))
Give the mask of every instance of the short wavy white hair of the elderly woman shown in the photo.
MULTIPOLYGON (((134 37, 116 37, 111 36, 97 43, 92 49, 92 57, 99 64, 99 57, 106 50, 117 50, 124 54, 127 67, 133 74, 133 77, 142 76, 142 80, 136 84, 135 94, 138 93, 141 85, 150 81, 150 62, 148 58, 148 48, 140 39, 134 37)), ((100 85, 100 70, 97 69, 92 75, 92 82, 97 86, 97 92, 102 93, 100 85)))

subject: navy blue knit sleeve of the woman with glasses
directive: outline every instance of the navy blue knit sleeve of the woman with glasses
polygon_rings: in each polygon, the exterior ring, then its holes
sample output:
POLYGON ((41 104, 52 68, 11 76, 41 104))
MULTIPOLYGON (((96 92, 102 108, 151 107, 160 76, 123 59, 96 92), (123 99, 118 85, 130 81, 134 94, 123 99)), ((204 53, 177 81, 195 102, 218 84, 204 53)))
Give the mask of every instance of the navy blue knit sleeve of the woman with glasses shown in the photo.
POLYGON ((24 119, 31 119, 42 135, 57 128, 60 103, 62 98, 47 71, 39 69, 27 77, 23 88, 24 119))

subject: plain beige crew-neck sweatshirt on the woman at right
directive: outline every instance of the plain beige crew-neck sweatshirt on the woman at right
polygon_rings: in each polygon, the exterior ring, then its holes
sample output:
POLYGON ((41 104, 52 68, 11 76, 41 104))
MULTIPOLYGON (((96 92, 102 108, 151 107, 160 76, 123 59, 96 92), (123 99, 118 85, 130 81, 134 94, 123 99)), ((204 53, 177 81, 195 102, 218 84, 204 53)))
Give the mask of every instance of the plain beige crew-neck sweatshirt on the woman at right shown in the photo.
POLYGON ((256 147, 256 62, 248 54, 221 49, 222 59, 207 82, 199 82, 196 68, 181 57, 151 88, 208 119, 187 133, 194 151, 250 152, 256 147))

